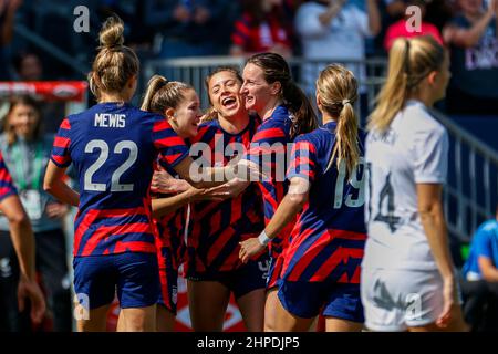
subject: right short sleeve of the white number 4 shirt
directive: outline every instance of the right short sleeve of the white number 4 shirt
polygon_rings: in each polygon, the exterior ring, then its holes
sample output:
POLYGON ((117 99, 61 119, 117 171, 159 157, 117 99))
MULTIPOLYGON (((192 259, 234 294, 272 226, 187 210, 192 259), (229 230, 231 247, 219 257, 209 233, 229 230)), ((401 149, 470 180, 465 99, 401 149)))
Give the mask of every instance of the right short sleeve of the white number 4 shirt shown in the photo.
POLYGON ((444 184, 448 170, 448 135, 444 128, 415 135, 414 177, 416 184, 444 184))

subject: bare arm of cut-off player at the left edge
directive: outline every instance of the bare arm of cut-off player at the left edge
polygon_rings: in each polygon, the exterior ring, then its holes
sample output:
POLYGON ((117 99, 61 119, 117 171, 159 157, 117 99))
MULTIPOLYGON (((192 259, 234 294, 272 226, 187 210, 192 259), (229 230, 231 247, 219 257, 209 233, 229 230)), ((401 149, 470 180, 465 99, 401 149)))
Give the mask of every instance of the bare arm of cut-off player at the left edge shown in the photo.
POLYGON ((45 313, 45 301, 35 280, 34 236, 30 220, 17 195, 2 199, 0 211, 9 220, 10 237, 21 270, 18 285, 19 310, 24 310, 24 299, 29 298, 31 300, 31 320, 40 323, 45 313))

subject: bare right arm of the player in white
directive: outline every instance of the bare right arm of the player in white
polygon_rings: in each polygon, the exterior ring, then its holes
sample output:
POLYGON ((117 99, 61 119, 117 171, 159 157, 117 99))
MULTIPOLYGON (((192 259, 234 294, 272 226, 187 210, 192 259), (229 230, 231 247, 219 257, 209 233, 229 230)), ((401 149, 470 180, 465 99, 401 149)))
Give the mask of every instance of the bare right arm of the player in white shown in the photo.
POLYGON ((417 184, 418 215, 427 241, 444 283, 445 309, 437 324, 446 325, 450 320, 450 308, 455 296, 453 261, 448 247, 448 232, 443 212, 440 184, 417 184))

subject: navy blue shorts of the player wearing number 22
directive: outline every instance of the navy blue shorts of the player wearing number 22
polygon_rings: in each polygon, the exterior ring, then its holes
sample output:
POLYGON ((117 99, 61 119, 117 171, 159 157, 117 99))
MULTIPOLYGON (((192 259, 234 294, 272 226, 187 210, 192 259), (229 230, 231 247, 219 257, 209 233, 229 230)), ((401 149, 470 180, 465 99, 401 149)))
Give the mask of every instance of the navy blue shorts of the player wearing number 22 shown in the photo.
POLYGON ((156 253, 75 257, 73 267, 74 292, 90 310, 111 304, 116 293, 122 309, 157 302, 160 290, 156 253))

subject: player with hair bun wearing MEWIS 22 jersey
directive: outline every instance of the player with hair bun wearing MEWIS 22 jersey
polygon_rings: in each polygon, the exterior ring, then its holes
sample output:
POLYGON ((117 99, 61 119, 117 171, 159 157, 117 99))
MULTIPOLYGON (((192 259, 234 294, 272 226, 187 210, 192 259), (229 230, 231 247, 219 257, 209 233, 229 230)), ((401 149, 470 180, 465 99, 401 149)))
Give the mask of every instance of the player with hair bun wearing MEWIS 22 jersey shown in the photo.
POLYGON ((44 180, 46 191, 80 209, 73 252, 80 331, 105 330, 115 291, 125 331, 155 330, 158 264, 148 188, 157 154, 195 187, 219 184, 191 180, 188 147, 164 116, 127 103, 138 59, 123 45, 123 31, 117 18, 104 23, 89 74, 98 103, 62 122, 44 180), (62 180, 71 163, 81 195, 62 180))

